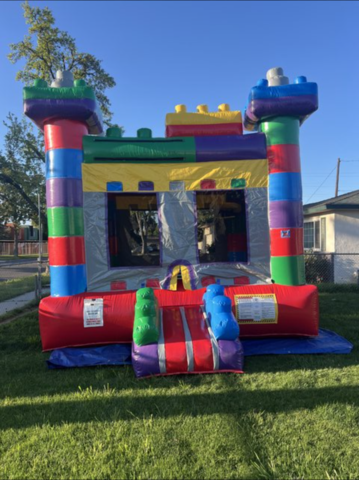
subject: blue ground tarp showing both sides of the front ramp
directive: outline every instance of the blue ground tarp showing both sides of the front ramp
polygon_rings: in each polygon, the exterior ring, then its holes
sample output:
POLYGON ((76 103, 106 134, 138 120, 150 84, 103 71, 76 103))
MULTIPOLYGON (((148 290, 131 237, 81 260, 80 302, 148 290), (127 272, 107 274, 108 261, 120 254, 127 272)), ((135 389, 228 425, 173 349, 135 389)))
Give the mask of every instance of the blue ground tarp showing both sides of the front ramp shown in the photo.
MULTIPOLYGON (((348 340, 324 329, 319 330, 318 337, 249 339, 242 340, 242 344, 245 356, 348 354, 353 349, 348 340)), ((62 348, 51 353, 47 364, 49 368, 131 365, 131 345, 62 348)))

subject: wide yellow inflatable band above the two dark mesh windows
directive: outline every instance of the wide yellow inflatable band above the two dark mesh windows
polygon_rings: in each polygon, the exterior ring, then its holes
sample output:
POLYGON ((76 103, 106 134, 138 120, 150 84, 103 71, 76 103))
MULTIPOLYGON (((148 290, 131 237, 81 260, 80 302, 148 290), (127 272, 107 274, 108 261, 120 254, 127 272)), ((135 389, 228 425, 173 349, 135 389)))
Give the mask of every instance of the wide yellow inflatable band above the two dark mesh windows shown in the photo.
POLYGON ((170 182, 183 182, 187 191, 203 190, 203 180, 214 180, 216 190, 230 190, 231 180, 238 178, 245 179, 246 188, 268 187, 267 159, 151 165, 86 163, 82 173, 84 192, 107 192, 108 182, 122 182, 123 192, 138 192, 141 181, 153 182, 155 192, 169 192, 170 182))

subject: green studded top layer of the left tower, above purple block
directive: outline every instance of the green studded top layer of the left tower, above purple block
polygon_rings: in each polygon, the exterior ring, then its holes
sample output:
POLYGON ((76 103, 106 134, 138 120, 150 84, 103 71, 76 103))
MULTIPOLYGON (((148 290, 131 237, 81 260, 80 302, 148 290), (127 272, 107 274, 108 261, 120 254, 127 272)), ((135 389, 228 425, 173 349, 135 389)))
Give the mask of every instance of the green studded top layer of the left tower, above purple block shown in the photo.
POLYGON ((80 80, 75 80, 75 86, 73 87, 61 88, 48 87, 46 82, 37 81, 35 86, 24 87, 22 95, 24 100, 88 98, 96 101, 92 87, 83 85, 80 80))

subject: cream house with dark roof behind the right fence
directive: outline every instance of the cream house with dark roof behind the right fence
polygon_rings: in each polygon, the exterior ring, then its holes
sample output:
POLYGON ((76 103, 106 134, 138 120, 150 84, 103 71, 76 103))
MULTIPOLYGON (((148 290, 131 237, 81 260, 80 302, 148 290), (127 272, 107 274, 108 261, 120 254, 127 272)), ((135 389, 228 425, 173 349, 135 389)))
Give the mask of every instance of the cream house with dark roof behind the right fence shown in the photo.
POLYGON ((330 253, 335 283, 357 283, 359 190, 304 205, 304 250, 330 253))

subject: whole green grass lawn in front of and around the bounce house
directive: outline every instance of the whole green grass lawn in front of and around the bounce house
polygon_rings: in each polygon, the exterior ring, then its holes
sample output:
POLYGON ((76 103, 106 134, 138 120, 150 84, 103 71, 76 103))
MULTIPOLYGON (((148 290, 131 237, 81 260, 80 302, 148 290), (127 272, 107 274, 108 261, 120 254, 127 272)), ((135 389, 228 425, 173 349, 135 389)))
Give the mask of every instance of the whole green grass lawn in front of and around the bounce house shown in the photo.
POLYGON ((249 357, 244 375, 51 371, 36 315, 0 326, 0 478, 359 478, 359 295, 320 297, 353 353, 249 357))

